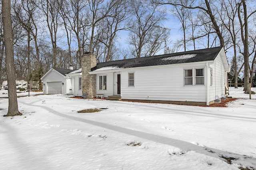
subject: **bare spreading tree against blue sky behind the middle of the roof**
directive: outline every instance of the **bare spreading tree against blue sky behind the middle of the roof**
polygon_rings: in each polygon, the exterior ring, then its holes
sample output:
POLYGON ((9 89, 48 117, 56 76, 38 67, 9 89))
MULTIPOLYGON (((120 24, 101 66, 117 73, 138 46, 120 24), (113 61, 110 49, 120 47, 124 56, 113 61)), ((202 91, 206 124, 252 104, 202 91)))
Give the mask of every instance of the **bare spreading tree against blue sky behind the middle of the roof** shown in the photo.
POLYGON ((134 22, 131 23, 128 43, 133 48, 134 57, 140 58, 143 50, 145 57, 150 51, 145 45, 152 38, 150 37, 153 35, 152 32, 166 20, 165 9, 158 8, 157 4, 151 4, 146 0, 131 0, 130 4, 134 13, 134 22))

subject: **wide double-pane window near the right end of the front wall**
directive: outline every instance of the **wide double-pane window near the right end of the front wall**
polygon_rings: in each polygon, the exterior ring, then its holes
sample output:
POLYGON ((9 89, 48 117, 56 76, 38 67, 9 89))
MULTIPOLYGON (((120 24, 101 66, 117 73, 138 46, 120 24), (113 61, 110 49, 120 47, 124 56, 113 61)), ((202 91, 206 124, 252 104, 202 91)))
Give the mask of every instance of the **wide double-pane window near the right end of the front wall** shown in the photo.
POLYGON ((184 86, 204 85, 204 68, 184 69, 184 86))

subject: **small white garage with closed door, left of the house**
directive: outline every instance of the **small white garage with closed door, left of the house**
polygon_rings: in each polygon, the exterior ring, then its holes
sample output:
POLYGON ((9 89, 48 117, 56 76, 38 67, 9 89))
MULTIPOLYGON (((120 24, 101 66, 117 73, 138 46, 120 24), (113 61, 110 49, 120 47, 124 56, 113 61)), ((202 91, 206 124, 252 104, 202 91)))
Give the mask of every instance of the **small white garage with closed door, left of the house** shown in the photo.
POLYGON ((67 86, 66 74, 74 71, 73 69, 51 68, 41 78, 43 81, 43 94, 66 94, 70 91, 67 86))

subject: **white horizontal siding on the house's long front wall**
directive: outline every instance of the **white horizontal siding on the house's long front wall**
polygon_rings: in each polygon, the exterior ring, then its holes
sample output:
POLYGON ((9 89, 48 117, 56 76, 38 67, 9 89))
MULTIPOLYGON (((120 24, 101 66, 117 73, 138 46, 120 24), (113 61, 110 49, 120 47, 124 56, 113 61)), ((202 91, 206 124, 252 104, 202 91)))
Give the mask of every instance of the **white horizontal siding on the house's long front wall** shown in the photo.
POLYGON ((183 79, 183 68, 178 65, 138 70, 131 68, 121 72, 121 96, 131 100, 206 102, 206 86, 184 86, 183 79), (122 76, 131 71, 136 80, 134 88, 129 88, 128 76, 122 76))

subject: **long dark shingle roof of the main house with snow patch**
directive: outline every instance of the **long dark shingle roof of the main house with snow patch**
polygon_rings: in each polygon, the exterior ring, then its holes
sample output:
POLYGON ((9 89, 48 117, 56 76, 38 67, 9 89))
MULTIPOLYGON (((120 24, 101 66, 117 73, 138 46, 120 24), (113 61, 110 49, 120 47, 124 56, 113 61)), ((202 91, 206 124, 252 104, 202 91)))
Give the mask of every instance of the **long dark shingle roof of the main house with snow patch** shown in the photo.
POLYGON ((214 47, 210 49, 185 51, 180 53, 156 55, 151 57, 109 61, 104 63, 97 63, 97 66, 95 66, 91 70, 94 71, 102 67, 132 68, 132 67, 142 67, 142 66, 157 66, 157 65, 166 65, 166 64, 213 61, 217 57, 221 49, 222 47, 214 47))

